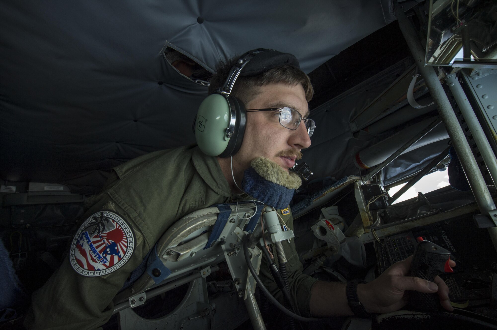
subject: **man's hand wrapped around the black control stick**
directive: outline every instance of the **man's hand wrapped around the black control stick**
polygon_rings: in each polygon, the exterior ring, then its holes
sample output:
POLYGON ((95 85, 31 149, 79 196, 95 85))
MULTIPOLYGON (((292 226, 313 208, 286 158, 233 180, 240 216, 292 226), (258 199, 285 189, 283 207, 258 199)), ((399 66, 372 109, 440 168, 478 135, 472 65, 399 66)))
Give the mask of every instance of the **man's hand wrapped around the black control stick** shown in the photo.
MULTIPOLYGON (((367 312, 383 314, 401 309, 408 303, 409 291, 407 290, 423 293, 437 292, 442 307, 451 312, 454 310, 450 306, 449 288, 440 276, 436 276, 434 282, 406 276, 409 274, 412 260, 411 256, 399 261, 372 282, 357 286, 359 301, 367 312)), ((455 265, 456 263, 451 260, 450 266, 455 265)))

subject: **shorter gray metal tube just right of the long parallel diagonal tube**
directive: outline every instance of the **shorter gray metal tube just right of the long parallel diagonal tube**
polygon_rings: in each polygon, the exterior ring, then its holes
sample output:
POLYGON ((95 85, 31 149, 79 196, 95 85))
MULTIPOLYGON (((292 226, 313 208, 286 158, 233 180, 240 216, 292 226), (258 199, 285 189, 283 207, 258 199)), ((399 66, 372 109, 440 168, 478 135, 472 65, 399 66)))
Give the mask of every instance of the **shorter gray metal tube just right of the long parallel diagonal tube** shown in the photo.
POLYGON ((449 83, 449 88, 454 96, 454 99, 459 106, 459 110, 463 114, 464 120, 466 120, 466 124, 471 131, 471 135, 473 135, 473 139, 475 139, 476 145, 478 146, 478 150, 482 154, 483 160, 485 161, 485 165, 494 180, 494 183, 497 182, 497 158, 490 146, 489 140, 487 136, 483 132, 482 125, 480 125, 480 121, 476 117, 475 111, 471 107, 471 104, 468 101, 466 93, 459 83, 455 74, 450 74, 447 76, 447 82, 449 83))

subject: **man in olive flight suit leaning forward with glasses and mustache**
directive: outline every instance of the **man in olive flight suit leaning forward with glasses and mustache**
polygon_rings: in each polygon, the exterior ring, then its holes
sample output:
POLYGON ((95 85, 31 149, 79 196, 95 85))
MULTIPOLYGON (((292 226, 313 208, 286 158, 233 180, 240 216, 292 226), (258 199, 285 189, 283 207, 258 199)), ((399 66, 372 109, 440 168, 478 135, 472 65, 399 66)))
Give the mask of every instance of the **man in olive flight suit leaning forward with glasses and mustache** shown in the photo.
MULTIPOLYGON (((235 57, 218 65, 211 92, 223 85, 237 60, 235 57)), ((174 221, 195 210, 237 200, 244 171, 255 157, 266 157, 288 170, 300 151, 311 145, 302 122, 309 115, 307 102, 312 86, 295 62, 273 63, 262 73, 240 77, 232 95, 246 109, 293 109, 296 112, 292 113, 302 117, 296 128, 283 126, 279 111, 248 111, 243 143, 233 159, 206 156, 198 147, 182 147, 154 152, 115 167, 102 192, 88 200, 83 218, 86 220, 69 256, 33 294, 25 327, 83 330, 104 324, 112 314, 112 298, 174 221), (112 245, 116 241, 119 249, 112 245), (101 254, 97 251, 100 247, 101 254), (105 258, 106 266, 95 258, 105 258)), ((293 227, 291 215, 286 217, 286 223, 293 227)), ((284 243, 284 249, 290 291, 300 314, 353 315, 344 284, 317 281, 302 274, 293 240, 284 243)), ((406 303, 406 290, 438 291, 442 305, 451 310, 443 281, 439 277, 432 283, 405 276, 409 265, 410 260, 399 262, 371 283, 357 287, 359 301, 367 312, 401 308, 406 303)), ((267 267, 262 266, 261 276, 279 296, 267 267)))

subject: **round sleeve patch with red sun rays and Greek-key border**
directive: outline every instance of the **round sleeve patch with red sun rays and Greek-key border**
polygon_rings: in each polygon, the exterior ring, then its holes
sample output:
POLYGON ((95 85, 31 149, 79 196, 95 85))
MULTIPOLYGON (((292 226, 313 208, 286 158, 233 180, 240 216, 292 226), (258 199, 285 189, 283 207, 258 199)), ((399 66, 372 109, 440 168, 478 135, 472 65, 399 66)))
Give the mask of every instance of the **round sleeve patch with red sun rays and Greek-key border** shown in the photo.
POLYGON ((130 226, 118 214, 100 211, 81 225, 71 244, 69 260, 81 275, 107 275, 129 260, 134 247, 130 226))

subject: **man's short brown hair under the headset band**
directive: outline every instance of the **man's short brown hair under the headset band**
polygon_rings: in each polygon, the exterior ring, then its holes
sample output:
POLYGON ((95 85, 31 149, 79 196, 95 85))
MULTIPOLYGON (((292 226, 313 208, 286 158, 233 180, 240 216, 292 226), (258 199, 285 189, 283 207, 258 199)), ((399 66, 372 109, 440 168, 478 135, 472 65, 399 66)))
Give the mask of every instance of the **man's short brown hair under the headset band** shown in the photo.
MULTIPOLYGON (((231 68, 235 65, 239 58, 240 56, 235 56, 228 60, 222 60, 216 65, 217 73, 215 73, 210 79, 209 94, 216 92, 223 86, 228 78, 231 68)), ((311 79, 309 79, 307 74, 305 74, 302 70, 289 65, 275 67, 256 76, 239 76, 235 86, 233 86, 231 95, 236 96, 242 100, 243 103, 247 104, 260 93, 260 87, 279 83, 289 86, 301 84, 306 93, 307 102, 311 101, 314 95, 311 79)))

